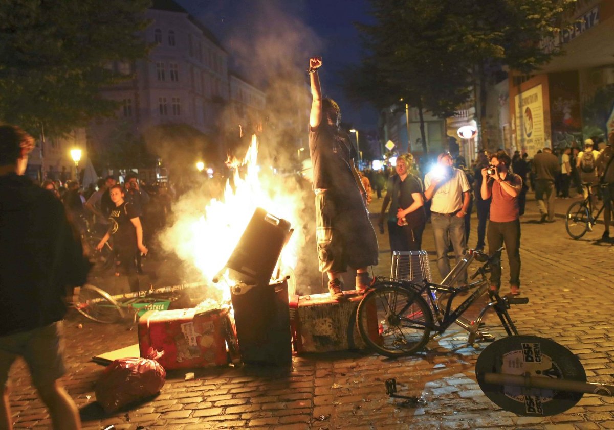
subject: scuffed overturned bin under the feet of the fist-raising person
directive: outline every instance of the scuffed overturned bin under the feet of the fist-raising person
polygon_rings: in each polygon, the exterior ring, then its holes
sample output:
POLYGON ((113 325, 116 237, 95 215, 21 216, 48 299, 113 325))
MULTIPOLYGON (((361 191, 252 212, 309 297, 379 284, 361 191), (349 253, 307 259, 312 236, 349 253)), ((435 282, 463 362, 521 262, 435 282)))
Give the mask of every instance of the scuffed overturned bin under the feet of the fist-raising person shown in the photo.
MULTIPOLYGON (((362 292, 343 292, 346 300, 336 301, 330 294, 295 295, 290 299, 290 326, 297 353, 365 349, 356 328, 356 309, 362 292)), ((377 327, 373 314, 373 327, 377 327)))

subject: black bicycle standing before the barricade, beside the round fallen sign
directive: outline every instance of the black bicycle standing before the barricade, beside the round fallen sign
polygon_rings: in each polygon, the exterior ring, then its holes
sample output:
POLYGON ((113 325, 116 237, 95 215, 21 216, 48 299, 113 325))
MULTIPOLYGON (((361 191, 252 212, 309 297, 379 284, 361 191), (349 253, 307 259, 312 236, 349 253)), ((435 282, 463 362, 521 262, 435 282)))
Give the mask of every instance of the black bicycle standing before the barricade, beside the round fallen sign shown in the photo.
POLYGON ((479 330, 489 309, 494 309, 497 313, 508 336, 518 334, 508 309, 511 304, 529 303, 529 299, 502 297, 499 292, 489 289, 486 279, 495 257, 500 258, 501 250, 502 248, 490 258, 481 251, 468 250, 442 284, 426 280, 419 284, 402 279, 376 277, 357 308, 356 323, 360 336, 373 350, 389 357, 407 356, 418 352, 430 339, 442 334, 454 322, 468 331, 468 344, 473 344, 476 338, 493 341, 494 336, 479 330), (475 279, 478 275, 481 275, 481 278, 465 287, 450 287, 449 285, 456 281, 474 259, 484 264, 471 279, 475 279), (453 300, 457 295, 472 290, 473 293, 466 300, 456 309, 452 309, 453 300), (443 301, 446 297, 441 295, 437 299, 435 292, 449 295, 445 305, 443 301), (464 319, 461 315, 487 292, 490 301, 481 309, 478 317, 473 321, 464 319), (433 336, 430 335, 432 331, 433 336))

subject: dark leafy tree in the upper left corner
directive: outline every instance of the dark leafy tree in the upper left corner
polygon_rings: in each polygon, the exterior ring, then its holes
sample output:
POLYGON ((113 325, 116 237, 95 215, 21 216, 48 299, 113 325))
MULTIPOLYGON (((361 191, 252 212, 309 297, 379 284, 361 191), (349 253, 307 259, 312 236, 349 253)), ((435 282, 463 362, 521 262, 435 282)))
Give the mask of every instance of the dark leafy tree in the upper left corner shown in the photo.
POLYGON ((0 119, 57 136, 109 116, 100 89, 130 78, 113 62, 147 54, 149 0, 0 2, 0 119))

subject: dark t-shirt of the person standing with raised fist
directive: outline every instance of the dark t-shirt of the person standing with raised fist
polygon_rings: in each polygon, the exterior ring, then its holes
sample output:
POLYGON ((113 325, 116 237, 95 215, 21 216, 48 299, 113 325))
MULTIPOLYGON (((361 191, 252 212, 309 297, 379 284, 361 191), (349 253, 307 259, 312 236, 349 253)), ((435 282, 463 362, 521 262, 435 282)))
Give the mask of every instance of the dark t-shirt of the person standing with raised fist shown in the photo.
POLYGON ((348 134, 321 123, 309 127, 309 155, 313 164, 313 189, 348 190, 357 187, 351 160, 357 155, 348 134))

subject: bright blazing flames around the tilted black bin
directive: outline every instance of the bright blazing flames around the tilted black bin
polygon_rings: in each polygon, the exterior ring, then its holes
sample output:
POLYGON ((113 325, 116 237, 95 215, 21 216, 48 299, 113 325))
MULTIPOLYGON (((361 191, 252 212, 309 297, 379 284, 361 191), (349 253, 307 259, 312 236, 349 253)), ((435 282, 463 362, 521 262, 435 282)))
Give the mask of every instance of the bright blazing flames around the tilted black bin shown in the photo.
MULTIPOLYGON (((264 208, 276 217, 286 219, 292 227, 300 225, 302 207, 299 193, 286 189, 284 180, 273 167, 257 164, 258 138, 252 136, 251 145, 243 160, 228 160, 233 169, 233 186, 228 180, 222 200, 213 199, 202 210, 182 214, 163 240, 173 241, 174 251, 180 258, 192 262, 204 281, 222 292, 222 300, 230 298, 231 281, 222 276, 217 284, 212 280, 225 266, 249 223, 254 210, 264 208), (200 213, 199 213, 200 212, 200 213)), ((301 228, 295 228, 282 250, 279 272, 291 274, 297 265, 298 249, 305 243, 301 228)), ((289 292, 293 293, 293 290, 289 292)))

